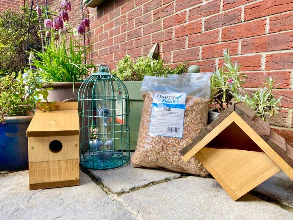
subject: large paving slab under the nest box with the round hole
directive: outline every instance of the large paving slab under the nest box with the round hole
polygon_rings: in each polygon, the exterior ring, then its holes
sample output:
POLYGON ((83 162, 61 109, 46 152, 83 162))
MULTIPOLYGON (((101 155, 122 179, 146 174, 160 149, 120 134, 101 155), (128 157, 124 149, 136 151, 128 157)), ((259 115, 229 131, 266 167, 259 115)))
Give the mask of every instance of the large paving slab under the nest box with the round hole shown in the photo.
POLYGON ((133 219, 86 174, 80 185, 29 190, 28 171, 0 175, 0 219, 133 219))

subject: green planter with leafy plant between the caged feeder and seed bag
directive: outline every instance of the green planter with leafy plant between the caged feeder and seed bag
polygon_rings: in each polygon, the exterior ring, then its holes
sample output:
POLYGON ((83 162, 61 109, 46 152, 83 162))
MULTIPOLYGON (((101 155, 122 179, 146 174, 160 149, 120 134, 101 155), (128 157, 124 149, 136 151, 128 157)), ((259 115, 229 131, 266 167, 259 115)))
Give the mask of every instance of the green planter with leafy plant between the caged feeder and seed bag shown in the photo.
POLYGON ((140 57, 136 61, 130 55, 125 55, 118 64, 117 69, 112 73, 120 78, 125 84, 130 101, 130 150, 136 149, 137 136, 141 111, 143 108, 143 97, 140 93, 141 84, 145 75, 166 76, 168 74, 185 73, 186 63, 172 68, 170 64, 165 64, 164 60, 140 57))

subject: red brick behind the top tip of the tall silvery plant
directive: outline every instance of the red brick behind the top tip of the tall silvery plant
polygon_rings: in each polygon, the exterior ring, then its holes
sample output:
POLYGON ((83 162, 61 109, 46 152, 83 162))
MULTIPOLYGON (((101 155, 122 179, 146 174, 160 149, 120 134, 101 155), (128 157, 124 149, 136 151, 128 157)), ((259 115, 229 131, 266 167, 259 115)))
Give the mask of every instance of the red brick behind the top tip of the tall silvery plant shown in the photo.
POLYGON ((201 50, 201 59, 207 59, 212 57, 222 57, 223 50, 229 48, 230 55, 238 53, 238 41, 231 41, 225 43, 217 43, 208 46, 203 46, 201 50))

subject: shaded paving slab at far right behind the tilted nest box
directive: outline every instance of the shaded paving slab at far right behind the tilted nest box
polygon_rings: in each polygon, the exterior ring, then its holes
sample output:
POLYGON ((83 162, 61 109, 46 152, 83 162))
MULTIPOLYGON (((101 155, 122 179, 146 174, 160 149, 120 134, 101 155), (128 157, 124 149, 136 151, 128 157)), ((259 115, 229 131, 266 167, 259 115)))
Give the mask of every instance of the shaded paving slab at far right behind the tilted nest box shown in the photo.
POLYGON ((283 171, 279 171, 267 179, 253 189, 253 192, 293 207, 293 182, 283 171))

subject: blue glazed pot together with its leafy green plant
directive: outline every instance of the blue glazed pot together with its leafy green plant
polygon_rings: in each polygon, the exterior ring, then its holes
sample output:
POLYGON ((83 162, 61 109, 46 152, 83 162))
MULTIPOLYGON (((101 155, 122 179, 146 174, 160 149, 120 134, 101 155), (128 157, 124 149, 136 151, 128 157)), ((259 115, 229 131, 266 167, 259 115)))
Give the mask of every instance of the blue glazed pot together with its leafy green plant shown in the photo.
MULTIPOLYGON (((31 122, 44 82, 32 72, 5 74, 0 78, 0 170, 20 170, 28 167, 26 130, 31 122)), ((44 106, 49 110, 49 103, 44 106)))

